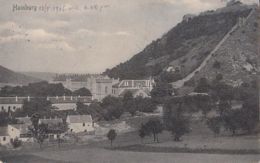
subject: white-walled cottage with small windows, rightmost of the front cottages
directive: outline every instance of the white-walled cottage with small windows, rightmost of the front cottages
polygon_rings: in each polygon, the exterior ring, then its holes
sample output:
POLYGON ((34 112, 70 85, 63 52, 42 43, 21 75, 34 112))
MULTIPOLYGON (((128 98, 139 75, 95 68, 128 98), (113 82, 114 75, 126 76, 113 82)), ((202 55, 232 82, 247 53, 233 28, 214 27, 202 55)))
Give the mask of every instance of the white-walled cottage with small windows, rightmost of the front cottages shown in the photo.
POLYGON ((95 131, 91 115, 69 115, 66 122, 69 133, 93 133, 95 131))

